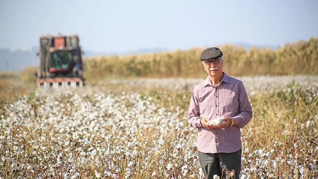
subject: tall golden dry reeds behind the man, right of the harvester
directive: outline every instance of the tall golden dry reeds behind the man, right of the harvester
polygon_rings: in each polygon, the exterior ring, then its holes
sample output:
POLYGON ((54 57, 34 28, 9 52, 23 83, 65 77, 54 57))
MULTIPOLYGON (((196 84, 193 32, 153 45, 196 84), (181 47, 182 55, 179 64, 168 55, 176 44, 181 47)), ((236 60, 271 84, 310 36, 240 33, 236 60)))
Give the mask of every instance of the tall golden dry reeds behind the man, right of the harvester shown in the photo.
MULTIPOLYGON (((318 74, 318 38, 285 44, 275 51, 222 45, 224 71, 234 76, 318 74)), ((86 58, 85 77, 203 77, 199 56, 204 48, 127 56, 86 58)))

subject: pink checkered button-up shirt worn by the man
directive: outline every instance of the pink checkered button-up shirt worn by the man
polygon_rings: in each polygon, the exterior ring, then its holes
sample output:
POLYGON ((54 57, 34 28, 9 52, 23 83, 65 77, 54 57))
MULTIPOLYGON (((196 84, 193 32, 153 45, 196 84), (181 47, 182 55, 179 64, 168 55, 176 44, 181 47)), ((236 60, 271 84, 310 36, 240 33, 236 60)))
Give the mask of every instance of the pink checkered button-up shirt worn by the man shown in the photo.
POLYGON ((252 107, 243 82, 227 76, 218 86, 209 77, 197 84, 192 92, 188 122, 197 128, 197 149, 203 153, 236 152, 242 148, 241 131, 252 118, 252 107), (225 128, 204 128, 200 120, 218 116, 233 117, 234 125, 225 128))

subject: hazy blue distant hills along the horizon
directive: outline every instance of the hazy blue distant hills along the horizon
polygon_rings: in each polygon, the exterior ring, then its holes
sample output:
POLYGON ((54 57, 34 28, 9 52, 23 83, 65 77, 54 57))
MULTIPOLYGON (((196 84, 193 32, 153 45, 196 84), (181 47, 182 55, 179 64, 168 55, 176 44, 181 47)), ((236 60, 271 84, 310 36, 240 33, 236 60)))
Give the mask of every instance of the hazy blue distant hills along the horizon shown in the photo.
MULTIPOLYGON (((276 46, 266 46, 266 45, 250 45, 244 43, 233 43, 234 45, 243 46, 245 50, 251 48, 252 46, 256 46, 258 48, 269 47, 275 50, 276 46)), ((93 52, 93 51, 85 51, 84 57, 91 56, 100 56, 100 55, 128 55, 128 54, 140 54, 140 53, 155 53, 155 52, 167 52, 169 49, 166 48, 153 48, 153 49, 137 49, 135 51, 127 51, 127 52, 114 52, 114 53, 102 53, 102 52, 93 52)), ((8 62, 9 71, 21 71, 29 66, 37 66, 39 64, 38 56, 36 53, 38 52, 38 47, 34 46, 29 49, 24 50, 15 50, 10 51, 9 49, 0 49, 0 72, 7 70, 6 62, 8 62)))

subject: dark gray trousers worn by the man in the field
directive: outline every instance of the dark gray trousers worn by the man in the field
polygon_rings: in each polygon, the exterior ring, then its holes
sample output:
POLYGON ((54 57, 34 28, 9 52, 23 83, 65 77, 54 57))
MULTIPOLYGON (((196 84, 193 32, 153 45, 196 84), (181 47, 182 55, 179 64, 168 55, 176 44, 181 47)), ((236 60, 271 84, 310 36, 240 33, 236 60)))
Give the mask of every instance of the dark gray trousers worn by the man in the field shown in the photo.
MULTIPOLYGON (((235 171, 235 179, 239 179, 241 171, 241 155, 242 149, 233 153, 202 153, 198 151, 198 158, 201 169, 206 179, 212 179, 214 175, 226 178, 226 172, 235 171)), ((229 177, 228 177, 229 178, 229 177)))

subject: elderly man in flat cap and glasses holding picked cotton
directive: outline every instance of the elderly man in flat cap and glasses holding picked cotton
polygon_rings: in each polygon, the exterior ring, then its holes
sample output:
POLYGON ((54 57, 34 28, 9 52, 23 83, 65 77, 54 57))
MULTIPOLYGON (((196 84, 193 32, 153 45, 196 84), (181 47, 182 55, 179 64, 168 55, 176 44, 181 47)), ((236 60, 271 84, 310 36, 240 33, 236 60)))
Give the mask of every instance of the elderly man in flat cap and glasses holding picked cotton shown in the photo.
POLYGON ((252 118, 252 107, 242 81, 222 71, 223 53, 217 47, 205 49, 200 56, 208 77, 192 92, 188 111, 190 127, 198 129, 197 149, 205 178, 226 177, 241 170, 241 131, 252 118), (222 117, 223 122, 210 125, 209 120, 222 117))

